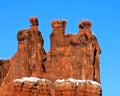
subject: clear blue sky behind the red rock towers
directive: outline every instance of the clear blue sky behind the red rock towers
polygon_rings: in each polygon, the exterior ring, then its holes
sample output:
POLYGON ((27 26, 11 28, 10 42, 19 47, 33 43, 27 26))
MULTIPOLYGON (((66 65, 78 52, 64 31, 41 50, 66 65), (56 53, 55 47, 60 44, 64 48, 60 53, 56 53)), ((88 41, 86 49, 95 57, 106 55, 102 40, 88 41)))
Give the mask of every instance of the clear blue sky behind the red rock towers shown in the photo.
POLYGON ((120 0, 1 0, 0 58, 11 58, 17 51, 17 32, 29 28, 30 16, 39 19, 46 51, 52 20, 67 20, 66 33, 78 33, 79 21, 91 20, 102 50, 103 96, 120 96, 120 0))

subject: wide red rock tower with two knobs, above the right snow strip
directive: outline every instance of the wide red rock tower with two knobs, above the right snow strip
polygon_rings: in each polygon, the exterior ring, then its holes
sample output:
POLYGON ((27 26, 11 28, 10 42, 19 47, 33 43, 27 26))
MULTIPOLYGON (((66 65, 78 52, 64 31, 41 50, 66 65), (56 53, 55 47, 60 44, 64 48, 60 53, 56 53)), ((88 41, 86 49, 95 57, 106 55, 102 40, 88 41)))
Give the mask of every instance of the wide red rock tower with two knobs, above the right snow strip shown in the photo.
POLYGON ((53 31, 50 35, 49 64, 46 63, 46 67, 51 66, 52 69, 49 79, 73 77, 100 82, 101 50, 95 35, 91 32, 91 22, 81 21, 79 25, 81 29, 77 35, 65 34, 64 20, 52 21, 51 25, 53 31))

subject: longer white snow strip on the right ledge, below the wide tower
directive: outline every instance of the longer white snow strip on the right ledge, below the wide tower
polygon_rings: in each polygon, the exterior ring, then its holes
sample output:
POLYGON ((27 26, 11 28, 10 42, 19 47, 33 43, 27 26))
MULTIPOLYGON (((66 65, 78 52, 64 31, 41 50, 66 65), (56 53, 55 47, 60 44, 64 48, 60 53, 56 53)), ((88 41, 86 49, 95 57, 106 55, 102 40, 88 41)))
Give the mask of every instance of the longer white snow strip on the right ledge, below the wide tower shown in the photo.
POLYGON ((79 85, 79 83, 90 82, 93 85, 100 86, 100 83, 98 83, 96 81, 92 81, 92 80, 78 80, 78 79, 74 79, 74 78, 56 80, 56 82, 58 82, 58 83, 62 83, 62 82, 65 82, 65 81, 73 82, 73 83, 76 83, 77 85, 79 85))

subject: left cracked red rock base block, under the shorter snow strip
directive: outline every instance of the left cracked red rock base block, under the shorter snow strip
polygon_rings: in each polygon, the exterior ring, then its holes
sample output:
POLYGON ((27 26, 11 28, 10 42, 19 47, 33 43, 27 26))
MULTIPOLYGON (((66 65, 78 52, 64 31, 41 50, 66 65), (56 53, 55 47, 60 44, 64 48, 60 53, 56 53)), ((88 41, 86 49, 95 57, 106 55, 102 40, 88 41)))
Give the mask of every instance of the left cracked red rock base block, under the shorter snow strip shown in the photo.
POLYGON ((51 96, 51 84, 49 80, 39 80, 37 82, 15 81, 13 83, 13 96, 51 96))

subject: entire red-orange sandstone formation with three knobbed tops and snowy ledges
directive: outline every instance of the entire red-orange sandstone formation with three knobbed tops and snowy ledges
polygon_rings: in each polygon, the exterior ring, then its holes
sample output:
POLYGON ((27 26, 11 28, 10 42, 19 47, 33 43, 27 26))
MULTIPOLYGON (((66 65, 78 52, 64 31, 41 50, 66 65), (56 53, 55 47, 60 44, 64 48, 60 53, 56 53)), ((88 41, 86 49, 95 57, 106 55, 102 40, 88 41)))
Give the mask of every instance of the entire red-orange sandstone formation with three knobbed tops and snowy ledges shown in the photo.
POLYGON ((91 32, 92 23, 83 20, 78 34, 65 34, 66 21, 52 21, 51 46, 45 52, 38 19, 29 20, 30 28, 17 34, 18 51, 8 63, 0 63, 0 72, 6 70, 0 77, 0 95, 101 96, 101 50, 91 32))

